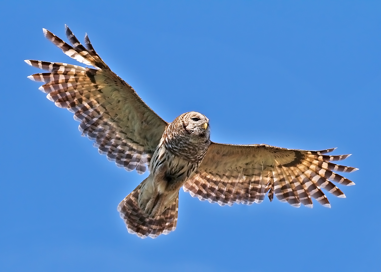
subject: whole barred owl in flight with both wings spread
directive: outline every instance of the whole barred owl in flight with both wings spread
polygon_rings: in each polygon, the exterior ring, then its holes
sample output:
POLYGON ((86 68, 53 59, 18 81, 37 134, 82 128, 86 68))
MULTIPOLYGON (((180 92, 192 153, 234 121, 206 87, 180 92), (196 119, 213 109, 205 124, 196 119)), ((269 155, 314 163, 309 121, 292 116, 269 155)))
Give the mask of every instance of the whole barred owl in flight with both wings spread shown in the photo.
POLYGON ((324 155, 334 149, 218 144, 210 141, 209 119, 198 112, 165 122, 102 61, 87 34, 85 48, 65 27, 71 46, 46 29, 43 33, 66 55, 94 68, 26 60, 48 71, 28 78, 45 83, 40 90, 74 113, 82 136, 94 141, 108 160, 139 174, 148 166, 149 176, 117 208, 128 232, 155 238, 173 231, 181 187, 221 206, 261 203, 266 194, 272 201, 275 194, 281 202, 312 208, 312 198, 330 207, 322 189, 345 198, 331 181, 354 185, 333 172, 357 170, 332 163, 349 156, 324 155))

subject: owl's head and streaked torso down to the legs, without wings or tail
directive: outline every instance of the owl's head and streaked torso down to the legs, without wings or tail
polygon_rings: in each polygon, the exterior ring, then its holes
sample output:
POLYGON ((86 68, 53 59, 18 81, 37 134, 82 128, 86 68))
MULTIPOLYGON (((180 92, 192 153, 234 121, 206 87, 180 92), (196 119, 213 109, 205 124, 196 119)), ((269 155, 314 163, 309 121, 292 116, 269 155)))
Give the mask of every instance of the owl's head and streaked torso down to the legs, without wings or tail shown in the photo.
POLYGON ((139 208, 154 218, 178 196, 210 145, 208 118, 187 112, 166 127, 149 165, 150 176, 142 182, 139 208))

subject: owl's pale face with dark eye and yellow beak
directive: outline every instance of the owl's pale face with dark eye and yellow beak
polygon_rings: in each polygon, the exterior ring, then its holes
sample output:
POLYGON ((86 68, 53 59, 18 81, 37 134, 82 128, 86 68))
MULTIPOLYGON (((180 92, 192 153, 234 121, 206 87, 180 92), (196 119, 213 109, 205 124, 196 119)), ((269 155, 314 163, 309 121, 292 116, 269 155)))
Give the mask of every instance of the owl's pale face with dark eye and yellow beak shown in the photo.
POLYGON ((209 119, 199 112, 187 112, 181 118, 185 130, 200 137, 209 138, 209 119))

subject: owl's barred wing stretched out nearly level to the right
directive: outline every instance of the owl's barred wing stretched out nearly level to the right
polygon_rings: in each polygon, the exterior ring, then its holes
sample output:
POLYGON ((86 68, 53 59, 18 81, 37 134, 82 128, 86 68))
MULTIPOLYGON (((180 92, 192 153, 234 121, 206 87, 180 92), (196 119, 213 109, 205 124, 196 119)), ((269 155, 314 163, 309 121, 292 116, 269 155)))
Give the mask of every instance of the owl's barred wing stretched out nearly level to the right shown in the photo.
POLYGON ((207 155, 183 189, 192 197, 219 205, 261 203, 268 192, 282 202, 312 208, 312 198, 330 207, 322 188, 345 198, 331 181, 354 185, 333 171, 353 172, 357 168, 336 165, 350 155, 323 155, 333 149, 307 151, 266 144, 231 145, 212 142, 207 155), (312 198, 311 198, 312 197, 312 198))

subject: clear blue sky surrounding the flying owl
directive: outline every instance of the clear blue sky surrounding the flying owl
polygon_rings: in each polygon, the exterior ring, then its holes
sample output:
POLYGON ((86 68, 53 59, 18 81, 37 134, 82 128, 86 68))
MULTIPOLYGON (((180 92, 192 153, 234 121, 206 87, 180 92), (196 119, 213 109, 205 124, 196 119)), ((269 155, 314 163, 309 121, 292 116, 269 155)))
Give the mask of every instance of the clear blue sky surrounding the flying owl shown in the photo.
MULTIPOLYGON (((381 2, 1 1, 1 271, 380 271, 381 2), (210 119, 211 140, 353 154, 331 209, 201 202, 177 229, 128 234, 118 203, 147 175, 80 137, 24 59, 79 64, 46 40, 85 32, 163 119, 210 119)), ((82 64, 80 64, 82 65, 82 64)))

